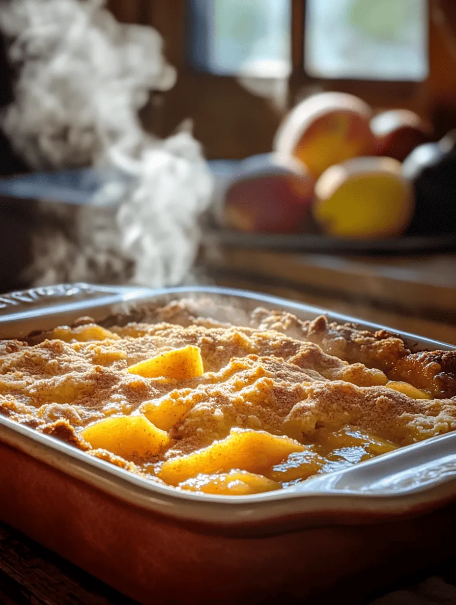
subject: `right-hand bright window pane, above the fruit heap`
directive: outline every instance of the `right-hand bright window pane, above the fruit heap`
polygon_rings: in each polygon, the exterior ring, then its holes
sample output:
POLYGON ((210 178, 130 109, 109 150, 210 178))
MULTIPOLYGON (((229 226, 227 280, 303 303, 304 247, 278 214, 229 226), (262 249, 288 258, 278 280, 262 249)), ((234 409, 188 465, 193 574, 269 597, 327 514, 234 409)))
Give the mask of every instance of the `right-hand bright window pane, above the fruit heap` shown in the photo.
POLYGON ((428 76, 426 0, 308 0, 311 76, 412 80, 428 76))

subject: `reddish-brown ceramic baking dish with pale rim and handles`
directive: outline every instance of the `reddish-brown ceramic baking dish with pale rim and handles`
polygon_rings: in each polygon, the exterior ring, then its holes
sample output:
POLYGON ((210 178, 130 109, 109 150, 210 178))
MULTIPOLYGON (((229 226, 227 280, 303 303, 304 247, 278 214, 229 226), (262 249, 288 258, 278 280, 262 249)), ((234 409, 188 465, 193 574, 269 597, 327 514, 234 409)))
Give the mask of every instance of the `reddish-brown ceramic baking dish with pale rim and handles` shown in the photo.
MULTIPOLYGON (((262 306, 379 327, 240 290, 63 284, 0 296, 0 338, 82 315, 105 325, 147 319, 151 307, 179 298, 237 325, 262 306)), ((412 350, 452 348, 400 335, 412 350)), ((455 500, 456 432, 287 489, 230 497, 154 485, 0 416, 2 520, 144 604, 281 595, 322 603, 325 590, 345 585, 355 603, 449 552, 455 500)))

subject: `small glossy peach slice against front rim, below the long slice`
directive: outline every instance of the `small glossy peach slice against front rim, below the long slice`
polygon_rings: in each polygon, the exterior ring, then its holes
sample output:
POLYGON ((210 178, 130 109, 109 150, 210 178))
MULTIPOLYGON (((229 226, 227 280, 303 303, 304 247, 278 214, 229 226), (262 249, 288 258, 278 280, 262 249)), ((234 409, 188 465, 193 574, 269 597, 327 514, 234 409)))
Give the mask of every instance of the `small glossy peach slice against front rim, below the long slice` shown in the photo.
POLYGON ((235 470, 219 475, 201 474, 179 483, 179 487, 190 491, 200 491, 204 494, 248 495, 280 489, 282 486, 263 475, 235 470))

